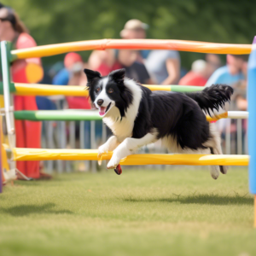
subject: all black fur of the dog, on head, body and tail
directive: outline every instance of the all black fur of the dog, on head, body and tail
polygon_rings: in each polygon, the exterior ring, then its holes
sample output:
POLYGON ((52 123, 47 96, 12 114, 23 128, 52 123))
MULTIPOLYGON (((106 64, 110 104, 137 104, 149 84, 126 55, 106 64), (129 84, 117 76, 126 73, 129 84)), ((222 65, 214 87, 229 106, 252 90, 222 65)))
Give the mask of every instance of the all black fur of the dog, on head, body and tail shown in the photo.
MULTIPOLYGON (((91 101, 96 99, 96 88, 101 87, 101 74, 84 70, 88 78, 87 87, 90 91, 91 101)), ((141 138, 147 133, 157 131, 157 138, 172 136, 176 138, 181 148, 206 148, 203 143, 211 137, 209 122, 206 113, 224 107, 225 102, 230 102, 233 89, 224 84, 212 85, 201 92, 178 93, 167 91, 151 91, 137 84, 143 91, 143 96, 138 108, 137 118, 131 137, 141 138)), ((127 109, 133 102, 134 95, 125 85, 125 70, 121 69, 110 73, 107 87, 113 88, 114 93, 109 94, 119 108, 120 119, 125 117, 127 109)))

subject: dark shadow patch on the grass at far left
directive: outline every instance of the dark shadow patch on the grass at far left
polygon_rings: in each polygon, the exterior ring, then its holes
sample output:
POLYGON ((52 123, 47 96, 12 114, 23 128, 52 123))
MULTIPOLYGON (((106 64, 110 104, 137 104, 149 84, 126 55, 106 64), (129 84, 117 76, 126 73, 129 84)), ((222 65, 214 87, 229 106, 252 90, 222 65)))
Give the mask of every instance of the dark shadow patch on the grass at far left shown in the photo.
POLYGON ((9 207, 7 209, 1 209, 0 212, 8 213, 12 216, 25 216, 33 213, 42 213, 42 214, 61 214, 61 213, 68 213, 72 214, 73 212, 68 210, 55 210, 54 203, 48 203, 41 206, 37 205, 20 205, 16 207, 9 207))

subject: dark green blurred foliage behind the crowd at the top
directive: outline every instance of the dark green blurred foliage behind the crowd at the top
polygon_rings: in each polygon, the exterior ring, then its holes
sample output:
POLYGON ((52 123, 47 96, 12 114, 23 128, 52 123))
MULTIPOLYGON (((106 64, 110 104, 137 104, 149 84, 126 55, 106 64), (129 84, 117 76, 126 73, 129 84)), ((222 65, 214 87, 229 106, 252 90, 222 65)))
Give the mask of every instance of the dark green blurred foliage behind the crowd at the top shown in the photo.
MULTIPOLYGON (((119 38, 125 22, 148 23, 148 38, 251 44, 253 1, 241 0, 4 0, 24 20, 38 44, 119 38)), ((84 56, 88 56, 89 53, 84 56)), ((183 66, 202 55, 183 53, 183 66)), ((49 58, 51 61, 52 58, 49 58)))

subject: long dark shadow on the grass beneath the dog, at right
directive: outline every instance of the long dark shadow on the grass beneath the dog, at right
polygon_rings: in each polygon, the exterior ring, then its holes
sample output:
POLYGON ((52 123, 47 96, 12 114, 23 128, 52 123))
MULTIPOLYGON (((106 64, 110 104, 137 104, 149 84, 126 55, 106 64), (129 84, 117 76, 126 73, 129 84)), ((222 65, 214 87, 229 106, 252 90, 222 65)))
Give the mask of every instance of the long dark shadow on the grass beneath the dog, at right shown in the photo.
POLYGON ((182 204, 202 204, 202 205, 253 205, 253 198, 247 195, 214 195, 214 194, 200 194, 200 195, 175 195, 172 198, 136 198, 127 197, 123 201, 131 202, 179 202, 182 204))

